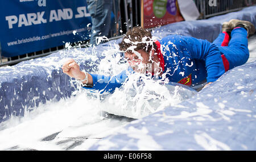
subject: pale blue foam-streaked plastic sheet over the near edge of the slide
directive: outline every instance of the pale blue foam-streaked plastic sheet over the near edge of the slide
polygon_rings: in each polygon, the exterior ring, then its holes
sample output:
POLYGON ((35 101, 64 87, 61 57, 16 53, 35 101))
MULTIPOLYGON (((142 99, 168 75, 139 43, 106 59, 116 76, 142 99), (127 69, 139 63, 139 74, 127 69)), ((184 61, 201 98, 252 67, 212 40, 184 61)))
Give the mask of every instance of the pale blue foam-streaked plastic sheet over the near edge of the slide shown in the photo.
POLYGON ((255 150, 255 68, 229 70, 179 107, 131 122, 90 150, 255 150))

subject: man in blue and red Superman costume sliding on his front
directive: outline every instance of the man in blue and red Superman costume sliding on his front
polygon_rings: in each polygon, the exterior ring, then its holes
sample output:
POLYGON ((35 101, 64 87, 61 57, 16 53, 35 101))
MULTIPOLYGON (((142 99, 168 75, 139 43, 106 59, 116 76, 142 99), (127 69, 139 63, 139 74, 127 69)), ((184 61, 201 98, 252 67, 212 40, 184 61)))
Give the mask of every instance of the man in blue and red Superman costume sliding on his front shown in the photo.
POLYGON ((190 36, 169 35, 157 41, 142 27, 129 30, 119 43, 130 67, 117 76, 82 72, 79 65, 68 60, 63 72, 80 80, 85 89, 113 92, 126 81, 127 73, 139 72, 153 78, 168 79, 187 86, 216 81, 227 70, 245 64, 249 58, 247 37, 254 34, 253 24, 232 19, 222 25, 218 38, 207 40, 190 36))

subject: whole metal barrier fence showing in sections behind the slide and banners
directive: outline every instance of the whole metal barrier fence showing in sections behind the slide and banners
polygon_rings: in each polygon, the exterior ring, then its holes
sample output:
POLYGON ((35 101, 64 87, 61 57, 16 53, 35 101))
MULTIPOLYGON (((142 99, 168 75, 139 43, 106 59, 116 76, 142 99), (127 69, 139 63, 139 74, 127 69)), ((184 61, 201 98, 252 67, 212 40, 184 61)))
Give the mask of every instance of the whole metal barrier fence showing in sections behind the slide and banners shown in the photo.
MULTIPOLYGON (((197 6, 197 9, 201 13, 200 19, 206 19, 212 16, 221 15, 225 13, 230 13, 233 11, 238 11, 247 6, 256 5, 256 0, 194 0, 197 6)), ((137 24, 141 24, 140 17, 140 6, 141 1, 139 0, 121 0, 119 1, 119 11, 121 14, 119 29, 125 33, 130 27, 136 26, 137 24)), ((121 36, 116 36, 110 38, 109 40, 120 38, 121 36)), ((82 45, 82 47, 87 47, 89 44, 86 42, 82 45)), ((74 47, 76 48, 76 47, 74 47)), ((1 44, 0 44, 0 67, 5 65, 14 65, 19 63, 20 61, 25 61, 29 59, 35 59, 37 57, 43 57, 50 55, 53 52, 56 52, 60 49, 64 49, 64 45, 59 47, 45 49, 42 51, 26 53, 21 56, 16 57, 2 57, 1 55, 1 44)))

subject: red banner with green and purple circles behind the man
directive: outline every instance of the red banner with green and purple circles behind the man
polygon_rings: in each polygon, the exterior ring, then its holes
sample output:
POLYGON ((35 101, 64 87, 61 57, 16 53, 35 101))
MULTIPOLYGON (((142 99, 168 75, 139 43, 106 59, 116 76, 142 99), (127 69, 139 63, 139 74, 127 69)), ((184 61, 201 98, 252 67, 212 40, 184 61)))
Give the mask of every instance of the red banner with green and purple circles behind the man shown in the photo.
POLYGON ((183 21, 176 0, 142 0, 142 26, 152 28, 183 21))

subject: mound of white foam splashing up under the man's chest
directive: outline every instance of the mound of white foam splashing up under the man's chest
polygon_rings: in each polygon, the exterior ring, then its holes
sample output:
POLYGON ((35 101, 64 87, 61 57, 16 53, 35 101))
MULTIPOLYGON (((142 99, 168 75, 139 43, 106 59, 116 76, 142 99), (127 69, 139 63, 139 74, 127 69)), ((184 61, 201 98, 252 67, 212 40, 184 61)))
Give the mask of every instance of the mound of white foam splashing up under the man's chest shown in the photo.
POLYGON ((176 91, 170 92, 159 82, 142 74, 131 74, 121 89, 115 89, 115 92, 105 99, 104 102, 109 106, 103 110, 126 117, 142 118, 181 102, 177 93, 178 87, 176 91), (143 78, 143 84, 137 84, 138 78, 143 78))

